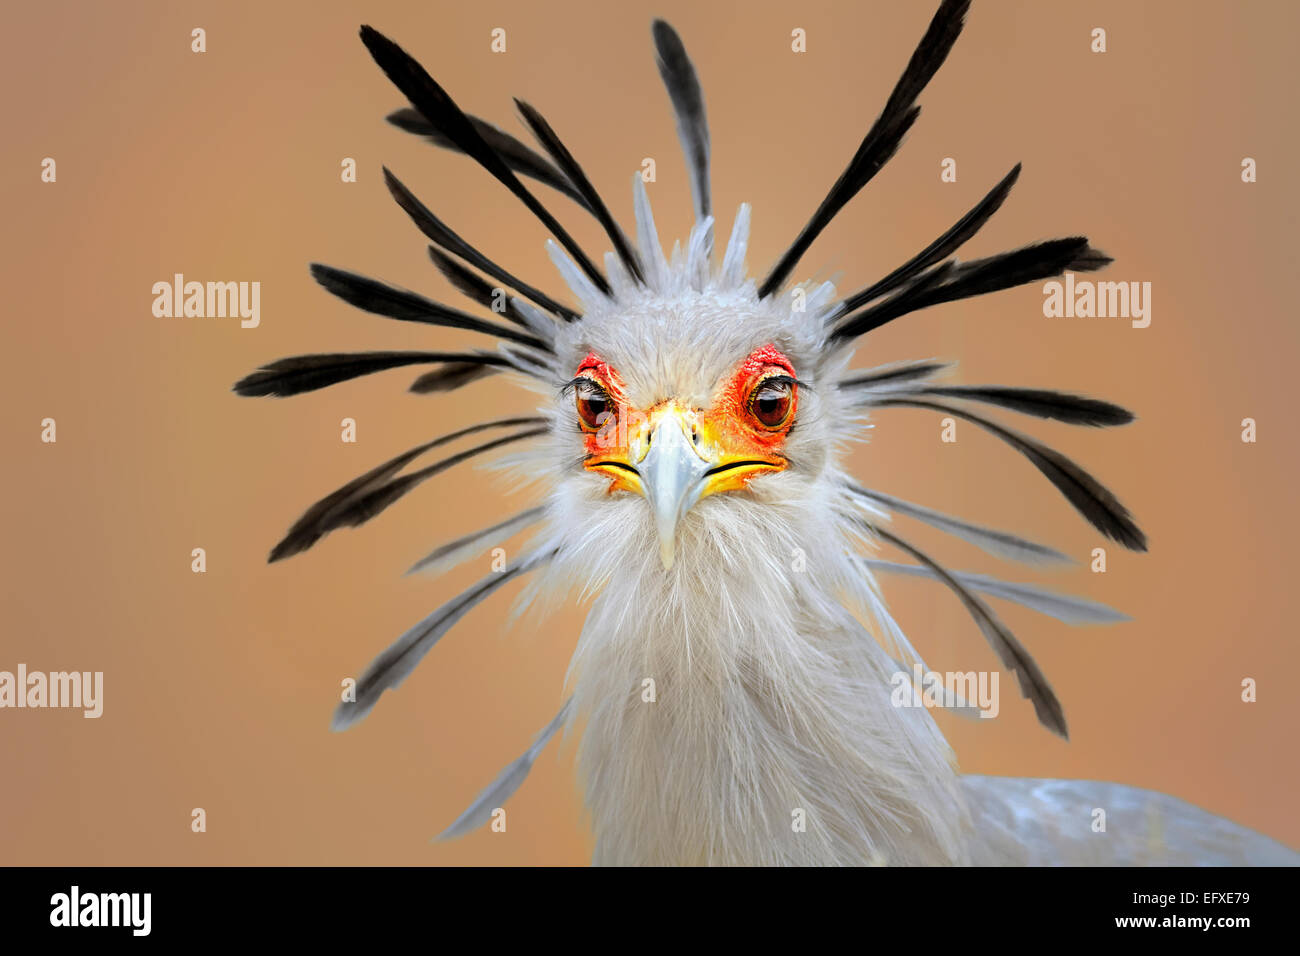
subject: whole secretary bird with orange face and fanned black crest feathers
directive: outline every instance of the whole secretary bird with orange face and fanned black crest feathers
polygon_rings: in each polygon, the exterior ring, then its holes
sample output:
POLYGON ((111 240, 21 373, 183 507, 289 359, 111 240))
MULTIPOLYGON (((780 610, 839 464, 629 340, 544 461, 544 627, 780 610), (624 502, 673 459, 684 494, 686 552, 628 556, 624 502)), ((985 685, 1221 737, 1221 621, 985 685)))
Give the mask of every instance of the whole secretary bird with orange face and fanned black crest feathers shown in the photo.
MULTIPOLYGON (((389 121, 468 155, 514 193, 554 235, 550 258, 577 302, 564 304, 498 265, 385 169, 393 198, 432 242, 433 264, 495 317, 328 265, 312 265, 312 274, 361 310, 482 333, 498 339, 497 349, 299 355, 235 385, 243 395, 290 395, 426 364, 432 369, 412 392, 500 376, 540 401, 536 415, 468 425, 380 464, 308 509, 270 553, 280 561, 304 551, 428 479, 500 449, 508 450, 503 467, 543 489, 532 507, 419 562, 437 571, 533 532, 524 557, 381 653, 359 679, 355 700, 334 715, 335 730, 363 719, 460 618, 516 578, 533 575, 525 607, 575 592, 592 600, 569 665, 572 696, 443 836, 486 822, 546 743, 581 722, 578 767, 597 864, 1296 862, 1286 847, 1160 793, 961 775, 930 711, 896 705, 897 675, 923 663, 890 618, 878 574, 923 575, 950 589, 1043 726, 1062 737, 1065 711, 1052 685, 980 594, 1069 623, 1123 615, 949 571, 904 538, 894 516, 1004 559, 1066 559, 855 481, 844 470, 845 450, 863 437, 872 410, 920 408, 975 425, 1024 455, 1097 532, 1147 549, 1128 510, 1100 481, 982 410, 1113 427, 1132 420, 1124 408, 1046 389, 941 384, 948 367, 939 362, 850 369, 859 338, 904 315, 1110 261, 1084 237, 966 261, 953 256, 1006 199, 1019 165, 870 286, 849 295, 829 282, 786 289, 826 225, 898 150, 967 7, 944 0, 848 168, 762 280, 745 265, 749 206, 736 213, 720 261, 714 256, 705 100, 666 22, 654 22, 653 38, 694 203, 685 247, 675 245, 668 256, 640 174, 632 182, 633 242, 534 107, 516 100, 541 152, 462 112, 400 47, 361 27, 365 47, 411 104, 389 121), (595 217, 614 250, 603 269, 520 177, 595 217), (477 444, 412 467, 463 438, 477 444), (875 557, 881 546, 909 561, 875 557), (654 702, 642 697, 647 679, 654 702), (1093 830, 1093 808, 1108 814, 1104 832, 1093 830)), ((953 695, 942 702, 968 706, 953 695)))

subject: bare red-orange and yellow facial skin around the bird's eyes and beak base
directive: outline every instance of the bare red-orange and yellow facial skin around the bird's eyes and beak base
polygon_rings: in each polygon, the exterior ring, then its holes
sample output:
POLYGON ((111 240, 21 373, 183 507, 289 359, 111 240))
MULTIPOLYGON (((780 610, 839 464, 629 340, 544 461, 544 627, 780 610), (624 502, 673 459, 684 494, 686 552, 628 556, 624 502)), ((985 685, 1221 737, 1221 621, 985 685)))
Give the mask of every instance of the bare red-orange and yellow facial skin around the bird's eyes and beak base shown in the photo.
MULTIPOLYGON (((584 394, 594 397, 598 407, 603 401, 601 394, 607 397, 603 406, 607 411, 599 416, 598 427, 584 423, 581 415, 578 421, 586 445, 584 467, 607 476, 611 493, 645 493, 637 466, 666 419, 680 424, 696 454, 708 463, 705 496, 741 489, 753 477, 783 471, 789 464, 781 449, 798 412, 798 386, 790 360, 772 345, 757 349, 741 362, 719 386, 707 410, 686 407, 676 399, 649 408, 630 407, 618 371, 595 352, 578 364, 577 377, 592 381, 577 385, 580 410, 584 394), (762 397, 758 407, 757 394, 762 397)), ((586 411, 592 407, 588 405, 586 411)))

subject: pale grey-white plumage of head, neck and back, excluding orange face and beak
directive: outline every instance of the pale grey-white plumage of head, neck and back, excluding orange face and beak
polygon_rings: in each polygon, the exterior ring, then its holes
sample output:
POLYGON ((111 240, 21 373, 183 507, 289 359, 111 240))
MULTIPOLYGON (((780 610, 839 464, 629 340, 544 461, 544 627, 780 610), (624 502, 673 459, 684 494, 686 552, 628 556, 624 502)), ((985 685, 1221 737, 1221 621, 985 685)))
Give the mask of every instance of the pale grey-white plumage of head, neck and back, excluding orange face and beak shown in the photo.
MULTIPOLYGON (((656 242, 640 178, 636 215, 641 242, 656 242)), ((568 710, 569 727, 581 724, 594 862, 1288 861, 1266 838, 1164 795, 961 778, 930 711, 890 705, 893 675, 919 658, 858 558, 871 542, 849 518, 840 460, 867 419, 833 388, 852 358, 827 347, 835 290, 760 300, 744 273, 749 208, 716 272, 697 241, 705 228, 697 224, 676 268, 656 245, 642 246, 647 286, 615 282, 612 300, 584 299, 590 285, 552 250, 586 310, 556 334, 556 365, 597 351, 620 369, 634 406, 668 397, 707 406, 741 358, 775 342, 809 385, 786 446, 796 467, 755 479, 745 494, 701 501, 666 570, 646 502, 572 467, 582 442, 569 401, 551 392, 540 408, 552 419, 547 442, 511 459, 551 485, 534 553, 555 557, 525 601, 594 596, 568 710), (876 623, 890 650, 859 618, 876 623), (1098 835, 1095 805, 1140 826, 1098 835)))

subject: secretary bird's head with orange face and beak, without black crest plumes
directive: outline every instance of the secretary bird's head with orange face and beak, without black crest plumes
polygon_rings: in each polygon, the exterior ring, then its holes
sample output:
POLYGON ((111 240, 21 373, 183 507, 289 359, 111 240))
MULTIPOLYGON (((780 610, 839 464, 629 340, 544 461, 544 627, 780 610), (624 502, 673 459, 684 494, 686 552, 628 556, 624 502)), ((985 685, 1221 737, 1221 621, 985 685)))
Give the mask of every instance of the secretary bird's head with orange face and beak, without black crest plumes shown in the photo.
MULTIPOLYGON (((740 219, 733 242, 742 243, 740 219)), ((806 488, 829 436, 812 385, 820 317, 793 310, 792 297, 759 300, 753 282, 662 267, 662 287, 597 303, 566 337, 571 377, 554 434, 562 458, 577 463, 562 481, 573 483, 588 522, 614 505, 633 524, 625 533, 645 532, 638 540, 653 541, 671 570, 679 537, 701 537, 688 527, 725 519, 774 479, 797 479, 783 483, 788 494, 806 488), (644 506, 619 509, 628 497, 644 506)))

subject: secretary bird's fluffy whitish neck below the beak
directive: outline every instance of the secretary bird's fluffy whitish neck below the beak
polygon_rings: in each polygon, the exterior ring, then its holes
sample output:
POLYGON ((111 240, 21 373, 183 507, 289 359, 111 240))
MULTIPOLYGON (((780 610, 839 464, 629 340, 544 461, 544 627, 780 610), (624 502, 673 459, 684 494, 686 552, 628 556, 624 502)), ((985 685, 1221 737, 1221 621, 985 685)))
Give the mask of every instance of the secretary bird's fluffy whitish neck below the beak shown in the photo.
POLYGON ((615 574, 593 605, 572 674, 595 862, 959 861, 930 714, 892 706, 896 665, 812 576, 763 566, 615 574))

